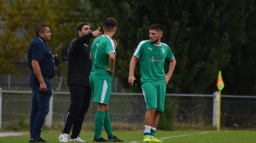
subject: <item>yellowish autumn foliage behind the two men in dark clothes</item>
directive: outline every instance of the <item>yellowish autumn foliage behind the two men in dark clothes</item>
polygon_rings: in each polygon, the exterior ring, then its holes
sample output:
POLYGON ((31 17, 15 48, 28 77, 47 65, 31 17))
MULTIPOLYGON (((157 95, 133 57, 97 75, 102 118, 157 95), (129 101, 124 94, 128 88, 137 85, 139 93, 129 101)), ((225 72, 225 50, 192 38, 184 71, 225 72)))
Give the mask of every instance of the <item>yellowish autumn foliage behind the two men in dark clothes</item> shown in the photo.
MULTIPOLYGON (((49 49, 60 55, 61 48, 68 47, 77 37, 78 23, 88 20, 89 6, 85 1, 40 1, 40 0, 3 0, 0 2, 0 74, 17 75, 15 65, 27 62, 27 49, 35 37, 37 25, 48 25, 51 40, 49 49), (79 6, 79 7, 77 7, 79 6)), ((65 64, 61 64, 66 70, 65 64)), ((58 68, 58 76, 61 68, 58 68)))

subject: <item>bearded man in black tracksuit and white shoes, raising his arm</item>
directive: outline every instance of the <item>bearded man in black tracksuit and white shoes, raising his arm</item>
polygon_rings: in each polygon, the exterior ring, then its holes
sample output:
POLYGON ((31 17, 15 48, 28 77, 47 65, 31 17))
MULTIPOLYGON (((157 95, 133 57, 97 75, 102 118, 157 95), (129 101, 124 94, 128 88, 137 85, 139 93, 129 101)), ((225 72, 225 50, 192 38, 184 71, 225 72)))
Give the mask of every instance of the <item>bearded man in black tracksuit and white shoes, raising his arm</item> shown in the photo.
POLYGON ((60 142, 68 142, 68 135, 72 128, 69 142, 86 142, 80 139, 79 134, 84 121, 85 113, 91 100, 91 86, 89 74, 91 72, 91 60, 89 59, 91 43, 89 39, 98 37, 101 32, 91 28, 87 23, 77 26, 77 35, 69 45, 68 51, 68 89, 70 91, 70 109, 65 119, 60 142))

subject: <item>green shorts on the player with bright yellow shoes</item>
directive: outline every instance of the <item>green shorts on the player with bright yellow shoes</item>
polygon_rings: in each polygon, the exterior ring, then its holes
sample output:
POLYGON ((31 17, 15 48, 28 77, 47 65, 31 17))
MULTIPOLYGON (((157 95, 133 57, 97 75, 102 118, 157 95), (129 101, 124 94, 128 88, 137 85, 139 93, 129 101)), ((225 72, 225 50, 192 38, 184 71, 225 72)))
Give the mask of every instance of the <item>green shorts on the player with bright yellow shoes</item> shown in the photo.
POLYGON ((147 110, 157 108, 158 112, 165 110, 165 81, 153 81, 142 83, 142 91, 146 101, 147 110))

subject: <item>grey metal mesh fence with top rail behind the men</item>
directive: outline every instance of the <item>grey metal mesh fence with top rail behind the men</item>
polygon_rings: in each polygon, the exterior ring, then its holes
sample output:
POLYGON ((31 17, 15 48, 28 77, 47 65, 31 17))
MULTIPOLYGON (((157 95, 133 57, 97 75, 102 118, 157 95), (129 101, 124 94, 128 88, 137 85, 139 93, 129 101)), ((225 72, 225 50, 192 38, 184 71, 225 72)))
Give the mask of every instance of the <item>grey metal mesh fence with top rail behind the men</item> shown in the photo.
MULTIPOLYGON (((29 122, 31 91, 1 91, 0 89, 0 129, 2 123, 14 123, 25 115, 29 122)), ((169 122, 216 125, 217 93, 214 94, 166 94, 165 113, 172 115, 169 122)), ((46 117, 46 125, 63 123, 70 106, 70 93, 53 92, 51 110, 46 117)), ((222 95, 221 127, 256 127, 256 96, 222 95)), ((97 105, 91 100, 85 122, 94 122, 97 105)), ((142 93, 112 93, 110 118, 121 124, 142 124, 146 103, 142 93)))

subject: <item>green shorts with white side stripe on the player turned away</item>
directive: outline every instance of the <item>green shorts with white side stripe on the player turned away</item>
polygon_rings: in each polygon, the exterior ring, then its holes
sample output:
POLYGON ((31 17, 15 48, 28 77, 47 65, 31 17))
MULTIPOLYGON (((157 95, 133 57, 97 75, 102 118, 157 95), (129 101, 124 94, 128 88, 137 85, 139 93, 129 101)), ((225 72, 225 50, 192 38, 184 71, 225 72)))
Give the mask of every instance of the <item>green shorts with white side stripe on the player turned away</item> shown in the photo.
POLYGON ((94 103, 103 103, 108 105, 111 95, 111 81, 106 81, 104 79, 99 79, 98 77, 89 77, 91 84, 91 91, 93 93, 94 103))

